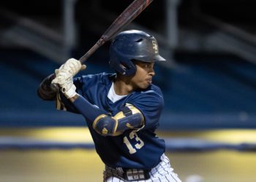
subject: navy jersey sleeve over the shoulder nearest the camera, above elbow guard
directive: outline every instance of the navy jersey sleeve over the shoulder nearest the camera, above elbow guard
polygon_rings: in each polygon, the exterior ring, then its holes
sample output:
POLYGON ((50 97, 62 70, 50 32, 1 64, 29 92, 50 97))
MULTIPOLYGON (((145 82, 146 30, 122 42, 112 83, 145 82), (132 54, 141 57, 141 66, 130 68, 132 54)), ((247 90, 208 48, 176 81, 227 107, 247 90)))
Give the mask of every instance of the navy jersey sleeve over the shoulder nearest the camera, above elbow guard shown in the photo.
POLYGON ((164 99, 161 90, 148 90, 141 92, 133 98, 131 104, 138 108, 144 117, 144 126, 141 129, 152 129, 159 125, 159 119, 164 106, 164 99))

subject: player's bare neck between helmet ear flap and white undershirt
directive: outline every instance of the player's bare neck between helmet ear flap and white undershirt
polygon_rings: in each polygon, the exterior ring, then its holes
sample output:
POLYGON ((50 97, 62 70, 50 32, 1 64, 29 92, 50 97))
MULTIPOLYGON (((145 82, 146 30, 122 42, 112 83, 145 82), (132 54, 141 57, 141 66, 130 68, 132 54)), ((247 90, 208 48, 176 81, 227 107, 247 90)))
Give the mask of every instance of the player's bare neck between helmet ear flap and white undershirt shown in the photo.
POLYGON ((114 82, 114 90, 117 95, 128 95, 135 90, 135 87, 130 84, 129 76, 116 76, 114 82))

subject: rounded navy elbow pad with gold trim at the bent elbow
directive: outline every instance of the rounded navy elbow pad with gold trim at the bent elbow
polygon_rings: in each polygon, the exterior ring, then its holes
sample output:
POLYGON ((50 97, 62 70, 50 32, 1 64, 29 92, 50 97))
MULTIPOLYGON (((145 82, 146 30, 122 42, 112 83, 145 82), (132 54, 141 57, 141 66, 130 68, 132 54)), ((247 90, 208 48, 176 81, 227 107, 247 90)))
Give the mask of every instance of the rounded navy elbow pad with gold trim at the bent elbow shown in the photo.
POLYGON ((121 133, 116 132, 118 121, 111 116, 102 114, 98 116, 93 123, 93 128, 99 135, 116 136, 121 133))

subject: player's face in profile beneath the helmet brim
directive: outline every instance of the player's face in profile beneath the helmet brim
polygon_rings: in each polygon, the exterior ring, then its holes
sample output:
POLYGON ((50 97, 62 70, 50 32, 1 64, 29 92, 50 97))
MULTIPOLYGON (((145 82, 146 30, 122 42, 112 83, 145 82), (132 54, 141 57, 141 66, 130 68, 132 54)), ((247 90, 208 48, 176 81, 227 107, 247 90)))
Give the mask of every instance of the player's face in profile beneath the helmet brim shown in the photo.
POLYGON ((139 89, 146 89, 152 83, 154 76, 154 63, 136 61, 137 68, 135 76, 132 76, 131 83, 139 89))

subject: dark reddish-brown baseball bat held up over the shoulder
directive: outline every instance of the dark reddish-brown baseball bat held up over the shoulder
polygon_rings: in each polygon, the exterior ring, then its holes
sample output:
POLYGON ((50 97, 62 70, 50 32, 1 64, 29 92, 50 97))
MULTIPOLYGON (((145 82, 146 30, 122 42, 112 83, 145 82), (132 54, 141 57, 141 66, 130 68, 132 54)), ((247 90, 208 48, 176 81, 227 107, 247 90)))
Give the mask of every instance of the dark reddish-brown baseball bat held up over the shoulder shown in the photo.
POLYGON ((129 7, 121 12, 116 20, 114 20, 113 23, 108 27, 105 33, 103 33, 97 43, 94 44, 94 46, 91 47, 91 49, 79 59, 80 62, 85 62, 99 47, 105 44, 106 41, 109 41, 113 38, 113 36, 116 36, 116 34, 121 31, 122 28, 131 23, 135 17, 140 15, 140 12, 143 12, 143 10, 146 9, 146 7, 148 7, 152 1, 153 0, 135 0, 129 4, 129 7))

